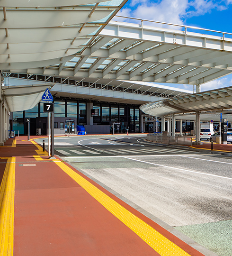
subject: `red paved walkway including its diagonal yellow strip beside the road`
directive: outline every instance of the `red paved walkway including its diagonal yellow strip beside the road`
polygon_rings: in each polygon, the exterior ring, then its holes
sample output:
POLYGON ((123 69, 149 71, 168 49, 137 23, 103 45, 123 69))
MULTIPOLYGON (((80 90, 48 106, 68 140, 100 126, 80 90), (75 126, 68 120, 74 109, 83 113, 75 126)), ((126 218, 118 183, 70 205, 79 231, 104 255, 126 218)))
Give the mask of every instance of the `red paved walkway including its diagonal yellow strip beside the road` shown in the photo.
POLYGON ((5 157, 16 157, 14 230, 9 238, 14 256, 203 255, 70 165, 56 164, 48 156, 35 158, 38 148, 24 140, 27 137, 17 138, 13 146, 9 139, 0 147, 0 178, 5 157), (71 174, 77 174, 80 183, 71 174), (109 207, 94 198, 101 193, 109 207), (121 211, 122 219, 116 218, 121 211))

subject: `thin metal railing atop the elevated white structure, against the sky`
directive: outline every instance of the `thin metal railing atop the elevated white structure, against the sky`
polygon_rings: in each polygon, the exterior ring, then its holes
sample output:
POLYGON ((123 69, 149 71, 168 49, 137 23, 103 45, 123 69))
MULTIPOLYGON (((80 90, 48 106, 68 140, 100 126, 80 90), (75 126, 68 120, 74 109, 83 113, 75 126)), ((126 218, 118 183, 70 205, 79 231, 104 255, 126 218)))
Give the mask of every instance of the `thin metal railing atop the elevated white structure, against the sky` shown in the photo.
POLYGON ((185 25, 179 25, 179 24, 174 24, 174 23, 168 23, 168 22, 162 22, 162 21, 154 21, 154 20, 144 19, 144 18, 142 19, 142 18, 126 17, 126 16, 120 16, 120 15, 116 15, 115 17, 139 20, 141 27, 143 27, 143 22, 144 21, 152 22, 152 23, 156 23, 156 24, 173 26, 173 27, 180 27, 180 28, 183 29, 184 34, 187 34, 187 28, 190 28, 190 29, 203 30, 203 31, 207 31, 207 32, 213 32, 213 33, 221 34, 221 35, 219 35, 219 37, 222 37, 221 39, 223 39, 223 40, 225 39, 225 35, 231 35, 232 36, 232 33, 218 31, 218 30, 213 30, 213 29, 207 29, 207 28, 201 28, 201 27, 185 26, 185 25))

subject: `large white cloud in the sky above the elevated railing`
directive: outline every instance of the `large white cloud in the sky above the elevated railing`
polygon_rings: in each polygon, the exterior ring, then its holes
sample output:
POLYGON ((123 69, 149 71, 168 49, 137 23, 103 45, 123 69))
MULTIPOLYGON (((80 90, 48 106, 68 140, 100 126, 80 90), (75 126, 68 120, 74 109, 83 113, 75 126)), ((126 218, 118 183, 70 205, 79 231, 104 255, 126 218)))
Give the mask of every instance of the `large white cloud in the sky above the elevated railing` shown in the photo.
POLYGON ((128 4, 131 9, 121 9, 119 15, 181 25, 185 18, 226 9, 232 0, 129 0, 128 4))

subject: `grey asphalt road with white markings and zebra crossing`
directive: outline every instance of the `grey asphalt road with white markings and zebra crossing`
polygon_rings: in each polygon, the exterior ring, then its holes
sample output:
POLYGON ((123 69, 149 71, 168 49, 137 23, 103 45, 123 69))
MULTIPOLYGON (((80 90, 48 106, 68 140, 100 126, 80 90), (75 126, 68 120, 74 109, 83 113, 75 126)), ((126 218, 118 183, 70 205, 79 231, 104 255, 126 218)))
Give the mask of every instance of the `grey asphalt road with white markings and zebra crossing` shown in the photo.
POLYGON ((232 155, 144 136, 55 137, 55 154, 138 210, 220 256, 232 255, 232 155))

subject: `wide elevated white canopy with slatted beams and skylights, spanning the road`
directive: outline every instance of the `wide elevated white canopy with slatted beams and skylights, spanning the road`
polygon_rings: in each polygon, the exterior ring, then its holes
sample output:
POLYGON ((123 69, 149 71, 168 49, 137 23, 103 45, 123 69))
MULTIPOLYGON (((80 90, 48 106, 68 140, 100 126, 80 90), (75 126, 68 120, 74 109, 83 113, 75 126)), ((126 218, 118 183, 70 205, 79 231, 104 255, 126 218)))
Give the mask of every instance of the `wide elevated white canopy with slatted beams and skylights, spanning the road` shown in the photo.
POLYGON ((36 69, 22 65, 17 72, 191 85, 232 73, 230 34, 153 26, 110 21, 88 47, 62 64, 36 69))

